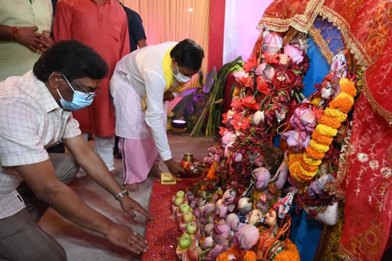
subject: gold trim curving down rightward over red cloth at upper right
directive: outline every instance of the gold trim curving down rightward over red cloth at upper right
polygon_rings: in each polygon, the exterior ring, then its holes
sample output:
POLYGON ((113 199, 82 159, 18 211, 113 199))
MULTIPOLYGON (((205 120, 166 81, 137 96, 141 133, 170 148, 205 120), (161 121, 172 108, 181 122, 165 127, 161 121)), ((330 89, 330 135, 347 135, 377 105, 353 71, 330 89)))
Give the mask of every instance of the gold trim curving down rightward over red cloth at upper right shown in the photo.
POLYGON ((350 25, 343 17, 325 6, 321 8, 320 15, 327 18, 329 22, 332 22, 340 30, 343 40, 360 65, 367 68, 373 64, 372 59, 367 55, 361 43, 351 33, 350 25))

